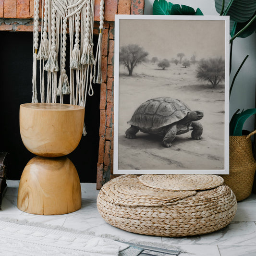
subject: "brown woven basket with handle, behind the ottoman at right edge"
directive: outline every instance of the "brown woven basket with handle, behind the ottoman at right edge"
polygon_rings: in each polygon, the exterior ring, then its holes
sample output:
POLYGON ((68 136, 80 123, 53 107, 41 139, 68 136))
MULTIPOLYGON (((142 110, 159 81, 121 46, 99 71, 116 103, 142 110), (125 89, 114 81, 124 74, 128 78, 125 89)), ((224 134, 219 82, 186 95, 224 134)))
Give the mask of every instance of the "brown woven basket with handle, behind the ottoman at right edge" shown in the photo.
POLYGON ((253 157, 251 136, 230 136, 229 175, 220 175, 236 195, 237 201, 251 195, 256 161, 253 157))

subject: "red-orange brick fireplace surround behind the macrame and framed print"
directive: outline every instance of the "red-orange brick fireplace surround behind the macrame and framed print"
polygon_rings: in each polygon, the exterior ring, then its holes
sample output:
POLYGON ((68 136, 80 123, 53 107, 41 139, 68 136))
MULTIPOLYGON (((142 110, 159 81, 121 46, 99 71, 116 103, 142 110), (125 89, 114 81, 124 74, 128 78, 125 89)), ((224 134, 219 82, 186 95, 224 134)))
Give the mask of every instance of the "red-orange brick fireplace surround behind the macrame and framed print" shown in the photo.
MULTIPOLYGON (((95 21, 99 21, 99 3, 100 0, 95 0, 95 21)), ((0 31, 33 31, 33 9, 34 0, 0 0, 0 31)), ((115 14, 138 15, 143 14, 143 11, 144 0, 105 0, 97 189, 114 177, 112 173, 115 14)), ((95 34, 99 32, 98 25, 98 22, 95 22, 95 34)))

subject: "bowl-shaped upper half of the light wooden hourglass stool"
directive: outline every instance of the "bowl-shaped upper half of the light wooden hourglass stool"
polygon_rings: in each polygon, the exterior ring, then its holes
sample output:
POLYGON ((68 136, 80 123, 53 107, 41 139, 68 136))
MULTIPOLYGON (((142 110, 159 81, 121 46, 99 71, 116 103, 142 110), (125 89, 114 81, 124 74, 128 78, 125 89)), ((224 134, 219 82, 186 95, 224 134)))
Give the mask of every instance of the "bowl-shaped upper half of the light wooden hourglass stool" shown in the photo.
POLYGON ((85 108, 60 103, 20 105, 20 133, 24 146, 41 157, 61 157, 79 144, 85 108))

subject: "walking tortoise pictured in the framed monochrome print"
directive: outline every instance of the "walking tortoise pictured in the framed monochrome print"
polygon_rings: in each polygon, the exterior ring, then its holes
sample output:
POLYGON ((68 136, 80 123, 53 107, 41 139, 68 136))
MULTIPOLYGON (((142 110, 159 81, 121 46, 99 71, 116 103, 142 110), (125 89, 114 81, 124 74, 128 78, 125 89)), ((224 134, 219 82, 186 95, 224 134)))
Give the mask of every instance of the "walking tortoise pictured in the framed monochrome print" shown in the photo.
POLYGON ((171 147, 177 134, 192 131, 191 137, 202 139, 203 126, 200 122, 203 111, 192 111, 181 100, 170 97, 152 98, 142 103, 127 123, 131 124, 125 132, 126 138, 134 139, 140 130, 146 134, 163 136, 163 145, 171 147))

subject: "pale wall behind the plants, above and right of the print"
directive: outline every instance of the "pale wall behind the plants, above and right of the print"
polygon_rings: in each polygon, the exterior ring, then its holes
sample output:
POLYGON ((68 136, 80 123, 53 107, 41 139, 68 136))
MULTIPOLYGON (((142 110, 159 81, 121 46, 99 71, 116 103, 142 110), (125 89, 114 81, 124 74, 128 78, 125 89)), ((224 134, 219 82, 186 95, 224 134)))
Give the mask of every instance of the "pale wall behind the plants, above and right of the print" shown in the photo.
MULTIPOLYGON (((204 15, 219 15, 215 10, 214 0, 167 0, 174 4, 184 4, 196 8, 204 15)), ((144 14, 152 14, 154 0, 145 0, 144 14)), ((236 38, 233 43, 232 73, 230 81, 246 55, 249 58, 236 78, 230 99, 230 118, 237 109, 255 108, 256 97, 256 33, 246 38, 236 38)), ((254 117, 245 122, 244 129, 254 130, 254 117)))

